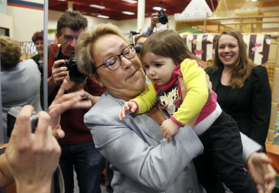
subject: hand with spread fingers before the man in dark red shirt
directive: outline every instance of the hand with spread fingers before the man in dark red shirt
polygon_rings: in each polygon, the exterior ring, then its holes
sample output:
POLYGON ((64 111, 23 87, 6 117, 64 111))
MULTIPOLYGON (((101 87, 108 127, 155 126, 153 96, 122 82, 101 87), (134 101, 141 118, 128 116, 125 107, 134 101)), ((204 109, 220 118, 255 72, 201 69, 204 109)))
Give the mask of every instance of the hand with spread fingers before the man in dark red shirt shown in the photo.
POLYGON ((64 94, 66 87, 67 81, 64 80, 60 85, 60 89, 58 90, 55 99, 48 109, 48 113, 51 117, 50 126, 52 128, 52 134, 56 139, 65 136, 65 133, 60 126, 60 115, 63 112, 72 108, 90 108, 92 106, 89 100, 81 101, 82 97, 85 96, 83 90, 64 94))

